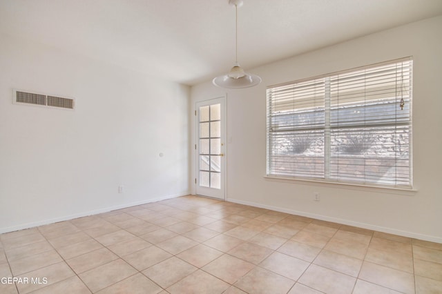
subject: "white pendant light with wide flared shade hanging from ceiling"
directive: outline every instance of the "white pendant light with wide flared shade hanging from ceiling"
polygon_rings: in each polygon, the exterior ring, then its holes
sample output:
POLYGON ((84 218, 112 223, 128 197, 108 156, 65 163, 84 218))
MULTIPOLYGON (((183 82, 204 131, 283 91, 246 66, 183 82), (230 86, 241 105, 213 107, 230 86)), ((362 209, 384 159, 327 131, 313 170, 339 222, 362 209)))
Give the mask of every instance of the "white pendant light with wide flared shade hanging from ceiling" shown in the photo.
POLYGON ((221 88, 249 88, 258 85, 261 82, 260 77, 244 72, 238 63, 238 7, 241 7, 242 3, 242 0, 229 0, 229 4, 235 6, 236 13, 236 57, 235 64, 233 65, 233 68, 231 68, 230 72, 227 75, 215 77, 215 79, 212 81, 213 85, 221 88))

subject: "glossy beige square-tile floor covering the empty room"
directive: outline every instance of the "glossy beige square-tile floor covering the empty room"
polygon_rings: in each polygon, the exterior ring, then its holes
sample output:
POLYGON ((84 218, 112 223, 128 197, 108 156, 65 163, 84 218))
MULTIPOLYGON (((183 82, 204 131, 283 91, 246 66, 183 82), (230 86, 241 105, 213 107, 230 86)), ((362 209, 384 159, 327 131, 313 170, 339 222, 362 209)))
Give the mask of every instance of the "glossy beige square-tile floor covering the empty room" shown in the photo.
POLYGON ((0 293, 442 293, 442 244, 196 196, 0 240, 0 293))

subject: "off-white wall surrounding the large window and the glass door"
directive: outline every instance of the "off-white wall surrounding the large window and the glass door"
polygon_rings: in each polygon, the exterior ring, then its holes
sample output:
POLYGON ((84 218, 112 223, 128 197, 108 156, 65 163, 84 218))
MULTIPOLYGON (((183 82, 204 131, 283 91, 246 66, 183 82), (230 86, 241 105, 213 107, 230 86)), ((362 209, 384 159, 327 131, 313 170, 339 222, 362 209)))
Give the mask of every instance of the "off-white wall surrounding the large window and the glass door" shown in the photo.
POLYGON ((247 68, 262 77, 254 88, 223 90, 210 81, 193 86, 193 108, 195 101, 227 94, 227 199, 442 243, 441 28, 442 17, 436 17, 247 68), (416 192, 265 179, 267 86, 407 56, 414 59, 416 192), (313 201, 315 192, 320 202, 313 201))

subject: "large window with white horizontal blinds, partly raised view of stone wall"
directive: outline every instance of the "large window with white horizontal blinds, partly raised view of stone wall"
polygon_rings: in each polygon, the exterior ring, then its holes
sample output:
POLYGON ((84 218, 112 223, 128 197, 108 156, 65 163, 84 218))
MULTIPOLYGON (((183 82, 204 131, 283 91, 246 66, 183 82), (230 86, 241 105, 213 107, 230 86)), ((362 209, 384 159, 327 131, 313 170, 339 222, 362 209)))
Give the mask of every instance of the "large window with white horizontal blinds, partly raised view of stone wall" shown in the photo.
POLYGON ((412 60, 267 88, 267 175, 412 186, 412 60))

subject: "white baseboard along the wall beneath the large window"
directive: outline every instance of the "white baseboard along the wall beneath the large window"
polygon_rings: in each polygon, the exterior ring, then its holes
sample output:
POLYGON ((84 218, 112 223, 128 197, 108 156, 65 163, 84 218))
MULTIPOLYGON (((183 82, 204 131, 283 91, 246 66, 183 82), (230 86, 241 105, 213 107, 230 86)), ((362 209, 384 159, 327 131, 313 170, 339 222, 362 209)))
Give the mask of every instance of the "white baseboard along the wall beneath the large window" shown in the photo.
POLYGON ((365 223, 361 223, 361 222, 353 222, 353 221, 350 221, 348 219, 340 219, 340 218, 337 218, 337 217, 327 217, 325 215, 316 215, 314 213, 305 213, 305 212, 298 211, 298 210, 291 210, 291 209, 287 209, 287 208, 280 208, 278 206, 270 206, 270 205, 265 205, 265 204, 259 204, 259 203, 256 203, 256 202, 247 202, 247 201, 231 199, 231 198, 226 199, 226 201, 227 202, 237 203, 237 204, 244 204, 244 205, 259 207, 259 208, 266 208, 266 209, 269 209, 269 210, 279 211, 281 213, 289 213, 291 215, 300 215, 302 217, 310 217, 310 218, 313 218, 313 219, 320 219, 320 220, 324 220, 324 221, 327 221, 327 222, 336 222, 338 224, 346 224, 348 226, 356 226, 358 228, 367 228, 368 230, 378 231, 378 232, 382 232, 382 233, 389 233, 389 234, 394 234, 394 235, 400 235, 400 236, 403 236, 403 237, 410 237, 410 238, 414 238, 414 239, 420 239, 420 240, 424 240, 424 241, 442 243, 442 238, 441 237, 435 237, 435 236, 430 236, 430 235, 423 235, 423 234, 420 234, 420 233, 413 233, 413 232, 408 232, 408 231, 401 231, 401 230, 396 230, 394 228, 387 228, 387 227, 384 227, 384 226, 374 226, 372 224, 365 224, 365 223))

